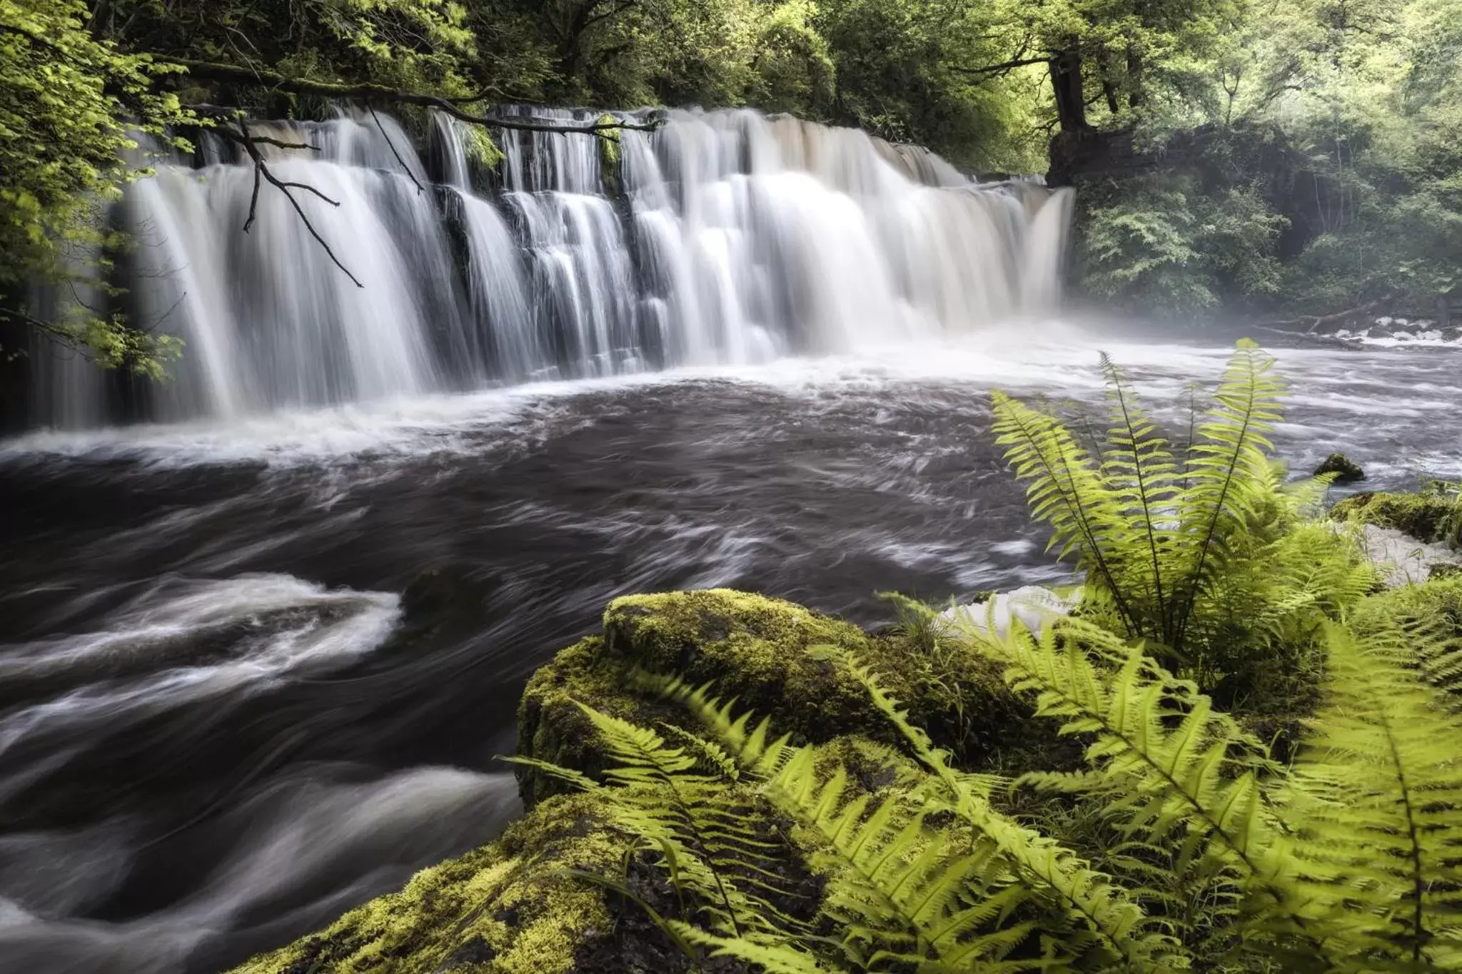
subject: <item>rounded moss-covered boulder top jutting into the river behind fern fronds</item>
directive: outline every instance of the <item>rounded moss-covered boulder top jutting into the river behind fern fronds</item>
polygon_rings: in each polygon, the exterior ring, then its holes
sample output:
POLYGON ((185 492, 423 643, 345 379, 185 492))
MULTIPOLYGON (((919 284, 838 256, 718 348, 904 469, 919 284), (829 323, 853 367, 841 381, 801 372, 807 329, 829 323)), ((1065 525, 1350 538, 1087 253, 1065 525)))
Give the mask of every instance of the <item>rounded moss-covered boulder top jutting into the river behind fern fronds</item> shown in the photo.
MULTIPOLYGON (((636 667, 677 673, 693 685, 711 682, 715 695, 770 717, 797 743, 842 735, 896 743, 896 732, 846 669, 807 653, 816 645, 854 650, 915 723, 972 761, 1048 730, 1031 720, 999 667, 974 653, 936 662, 895 635, 871 637, 789 602, 718 588, 611 602, 602 637, 569 647, 529 680, 519 705, 519 753, 599 774, 604 755, 575 701, 642 724, 693 727, 684 711, 629 688, 636 667)), ((563 790, 534 768, 518 774, 528 806, 563 790)))

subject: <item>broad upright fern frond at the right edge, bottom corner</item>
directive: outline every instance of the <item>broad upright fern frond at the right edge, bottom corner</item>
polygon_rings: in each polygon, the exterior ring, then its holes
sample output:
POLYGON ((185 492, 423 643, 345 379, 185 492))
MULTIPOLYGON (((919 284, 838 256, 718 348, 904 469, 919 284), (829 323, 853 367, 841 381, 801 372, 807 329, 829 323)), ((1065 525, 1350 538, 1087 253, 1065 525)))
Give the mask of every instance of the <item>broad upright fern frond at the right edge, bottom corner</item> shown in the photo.
POLYGON ((1401 626, 1327 628, 1329 701, 1291 775, 1310 892, 1415 970, 1462 961, 1462 718, 1401 626), (1354 910, 1355 902, 1364 905, 1354 910))

